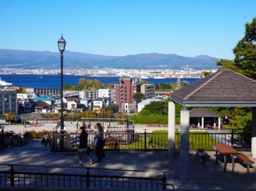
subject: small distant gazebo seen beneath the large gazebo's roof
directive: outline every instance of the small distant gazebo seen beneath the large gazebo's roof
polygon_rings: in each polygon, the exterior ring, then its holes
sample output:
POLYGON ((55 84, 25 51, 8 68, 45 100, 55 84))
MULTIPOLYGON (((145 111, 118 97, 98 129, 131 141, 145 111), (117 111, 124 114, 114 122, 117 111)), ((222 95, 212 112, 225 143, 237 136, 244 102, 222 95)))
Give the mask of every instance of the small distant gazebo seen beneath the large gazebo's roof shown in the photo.
POLYGON ((212 117, 214 119, 214 128, 216 128, 216 117, 219 117, 218 128, 220 129, 220 116, 207 108, 195 108, 190 110, 190 117, 198 117, 198 127, 200 127, 200 117, 202 119, 201 127, 204 128, 204 117, 212 117))

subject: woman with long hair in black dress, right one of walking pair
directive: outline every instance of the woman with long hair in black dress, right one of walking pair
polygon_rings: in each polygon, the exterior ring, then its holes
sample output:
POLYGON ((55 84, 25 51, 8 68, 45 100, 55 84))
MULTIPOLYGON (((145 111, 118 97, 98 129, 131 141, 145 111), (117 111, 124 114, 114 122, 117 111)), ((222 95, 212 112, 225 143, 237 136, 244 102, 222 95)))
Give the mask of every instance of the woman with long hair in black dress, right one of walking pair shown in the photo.
POLYGON ((101 162, 102 158, 106 157, 103 151, 103 147, 105 146, 105 141, 103 140, 103 127, 100 123, 97 123, 96 127, 97 130, 95 131, 95 137, 98 139, 95 149, 96 156, 98 157, 96 162, 101 162))

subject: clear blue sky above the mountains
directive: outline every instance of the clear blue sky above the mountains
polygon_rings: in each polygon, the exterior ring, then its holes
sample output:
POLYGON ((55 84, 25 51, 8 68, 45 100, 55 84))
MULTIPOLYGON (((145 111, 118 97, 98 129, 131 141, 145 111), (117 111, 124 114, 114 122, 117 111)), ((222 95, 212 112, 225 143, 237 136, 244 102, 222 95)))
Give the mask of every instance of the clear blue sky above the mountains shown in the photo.
MULTIPOLYGON (((0 1, 0 49, 233 59, 256 1, 0 1)), ((65 52, 64 52, 65 54, 65 52)))

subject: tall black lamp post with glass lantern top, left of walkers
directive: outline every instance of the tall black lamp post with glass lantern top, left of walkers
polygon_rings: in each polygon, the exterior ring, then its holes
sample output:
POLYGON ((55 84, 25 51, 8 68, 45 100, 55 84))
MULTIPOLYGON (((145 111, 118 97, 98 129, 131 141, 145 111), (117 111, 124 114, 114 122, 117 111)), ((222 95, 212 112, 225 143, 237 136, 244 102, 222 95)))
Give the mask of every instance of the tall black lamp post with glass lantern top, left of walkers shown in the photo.
MULTIPOLYGON (((65 39, 62 37, 58 39, 58 50, 60 50, 61 52, 61 116, 60 116, 60 120, 61 120, 61 130, 64 129, 64 116, 63 116, 63 52, 65 51, 65 47, 66 47, 66 41, 65 39)), ((61 136, 61 149, 64 148, 64 143, 63 143, 63 135, 61 136)))

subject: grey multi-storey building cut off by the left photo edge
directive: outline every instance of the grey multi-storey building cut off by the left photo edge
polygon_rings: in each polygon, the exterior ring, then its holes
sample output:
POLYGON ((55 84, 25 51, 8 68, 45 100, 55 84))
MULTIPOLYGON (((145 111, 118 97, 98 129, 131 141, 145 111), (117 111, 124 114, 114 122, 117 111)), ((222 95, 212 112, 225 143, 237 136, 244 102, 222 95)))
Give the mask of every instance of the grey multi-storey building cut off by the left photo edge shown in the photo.
POLYGON ((17 114, 17 91, 0 90, 0 115, 6 112, 17 114))

